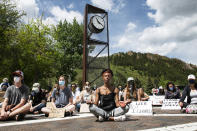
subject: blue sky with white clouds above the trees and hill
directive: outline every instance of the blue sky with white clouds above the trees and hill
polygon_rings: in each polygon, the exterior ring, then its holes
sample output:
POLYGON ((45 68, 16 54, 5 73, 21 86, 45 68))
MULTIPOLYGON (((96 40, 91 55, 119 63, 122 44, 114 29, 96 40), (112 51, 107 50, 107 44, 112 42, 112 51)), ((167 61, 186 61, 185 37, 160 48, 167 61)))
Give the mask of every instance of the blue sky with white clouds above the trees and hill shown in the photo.
POLYGON ((45 24, 73 18, 83 23, 91 4, 109 16, 110 54, 135 51, 178 58, 197 65, 197 0, 12 0, 23 20, 42 14, 45 24))

